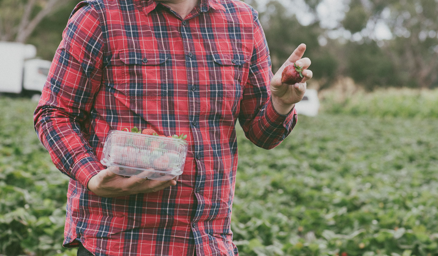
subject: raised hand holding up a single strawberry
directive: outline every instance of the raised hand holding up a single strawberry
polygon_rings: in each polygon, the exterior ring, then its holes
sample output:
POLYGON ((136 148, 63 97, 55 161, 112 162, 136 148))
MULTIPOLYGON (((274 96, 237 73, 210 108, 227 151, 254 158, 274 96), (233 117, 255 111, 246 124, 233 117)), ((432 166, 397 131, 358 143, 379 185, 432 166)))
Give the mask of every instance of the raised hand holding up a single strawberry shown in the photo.
POLYGON ((303 99, 304 92, 306 92, 306 81, 312 78, 312 71, 307 70, 310 66, 309 58, 302 58, 304 51, 306 50, 305 44, 300 44, 290 55, 290 57, 283 63, 283 66, 277 71, 271 80, 271 97, 274 109, 282 115, 286 115, 293 108, 295 103, 300 102, 303 99), (283 84, 281 82, 281 73, 283 69, 296 62, 297 65, 303 67, 303 81, 296 84, 283 84))

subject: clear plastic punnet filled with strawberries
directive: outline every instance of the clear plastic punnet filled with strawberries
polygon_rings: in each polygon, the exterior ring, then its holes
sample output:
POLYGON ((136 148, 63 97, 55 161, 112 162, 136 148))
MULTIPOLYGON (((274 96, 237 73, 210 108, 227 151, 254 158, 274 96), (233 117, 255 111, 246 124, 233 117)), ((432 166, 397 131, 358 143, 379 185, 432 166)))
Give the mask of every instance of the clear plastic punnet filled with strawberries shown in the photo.
POLYGON ((170 180, 183 173, 186 156, 186 140, 112 130, 101 163, 119 167, 119 175, 170 180))

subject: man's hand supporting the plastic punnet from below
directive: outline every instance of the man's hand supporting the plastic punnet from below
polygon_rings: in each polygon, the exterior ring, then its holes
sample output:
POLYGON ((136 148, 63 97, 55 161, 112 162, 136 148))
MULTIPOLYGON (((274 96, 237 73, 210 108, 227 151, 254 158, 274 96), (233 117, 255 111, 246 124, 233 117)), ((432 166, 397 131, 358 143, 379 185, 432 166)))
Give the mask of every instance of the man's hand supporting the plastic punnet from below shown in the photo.
MULTIPOLYGON (((118 167, 109 167, 118 168, 118 167)), ((135 176, 125 177, 104 169, 94 175, 88 182, 88 189, 98 196, 117 197, 138 193, 156 192, 169 186, 177 185, 176 179, 153 180, 135 176)))

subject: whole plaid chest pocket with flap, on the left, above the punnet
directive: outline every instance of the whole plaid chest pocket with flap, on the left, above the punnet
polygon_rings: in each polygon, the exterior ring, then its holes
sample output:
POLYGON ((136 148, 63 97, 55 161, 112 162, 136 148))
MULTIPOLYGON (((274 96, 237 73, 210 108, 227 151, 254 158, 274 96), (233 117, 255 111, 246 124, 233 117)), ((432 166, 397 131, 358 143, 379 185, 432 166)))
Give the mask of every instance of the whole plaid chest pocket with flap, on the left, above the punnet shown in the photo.
POLYGON ((159 98, 162 81, 166 77, 168 59, 164 50, 124 49, 119 53, 119 77, 115 77, 117 90, 131 98, 159 98))

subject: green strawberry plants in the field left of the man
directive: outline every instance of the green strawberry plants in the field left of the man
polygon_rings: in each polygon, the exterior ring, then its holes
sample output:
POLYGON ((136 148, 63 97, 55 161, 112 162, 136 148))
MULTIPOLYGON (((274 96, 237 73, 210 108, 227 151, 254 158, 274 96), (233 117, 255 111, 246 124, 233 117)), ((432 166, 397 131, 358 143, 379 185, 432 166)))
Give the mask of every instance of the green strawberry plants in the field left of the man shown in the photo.
POLYGON ((65 255, 68 179, 36 136, 35 107, 27 99, 0 98, 0 255, 65 255))

